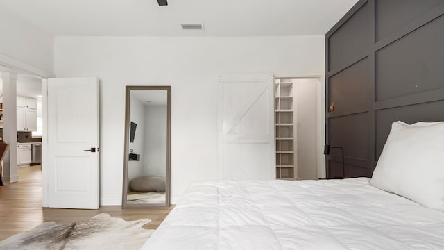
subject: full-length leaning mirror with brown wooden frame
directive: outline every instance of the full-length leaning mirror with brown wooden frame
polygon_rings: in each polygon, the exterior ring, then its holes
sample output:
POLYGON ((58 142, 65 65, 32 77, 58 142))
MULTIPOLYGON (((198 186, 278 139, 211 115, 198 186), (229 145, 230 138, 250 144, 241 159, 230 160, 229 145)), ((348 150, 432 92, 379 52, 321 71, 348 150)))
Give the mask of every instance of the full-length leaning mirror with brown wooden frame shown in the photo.
POLYGON ((126 86, 123 208, 169 207, 171 86, 126 86))

